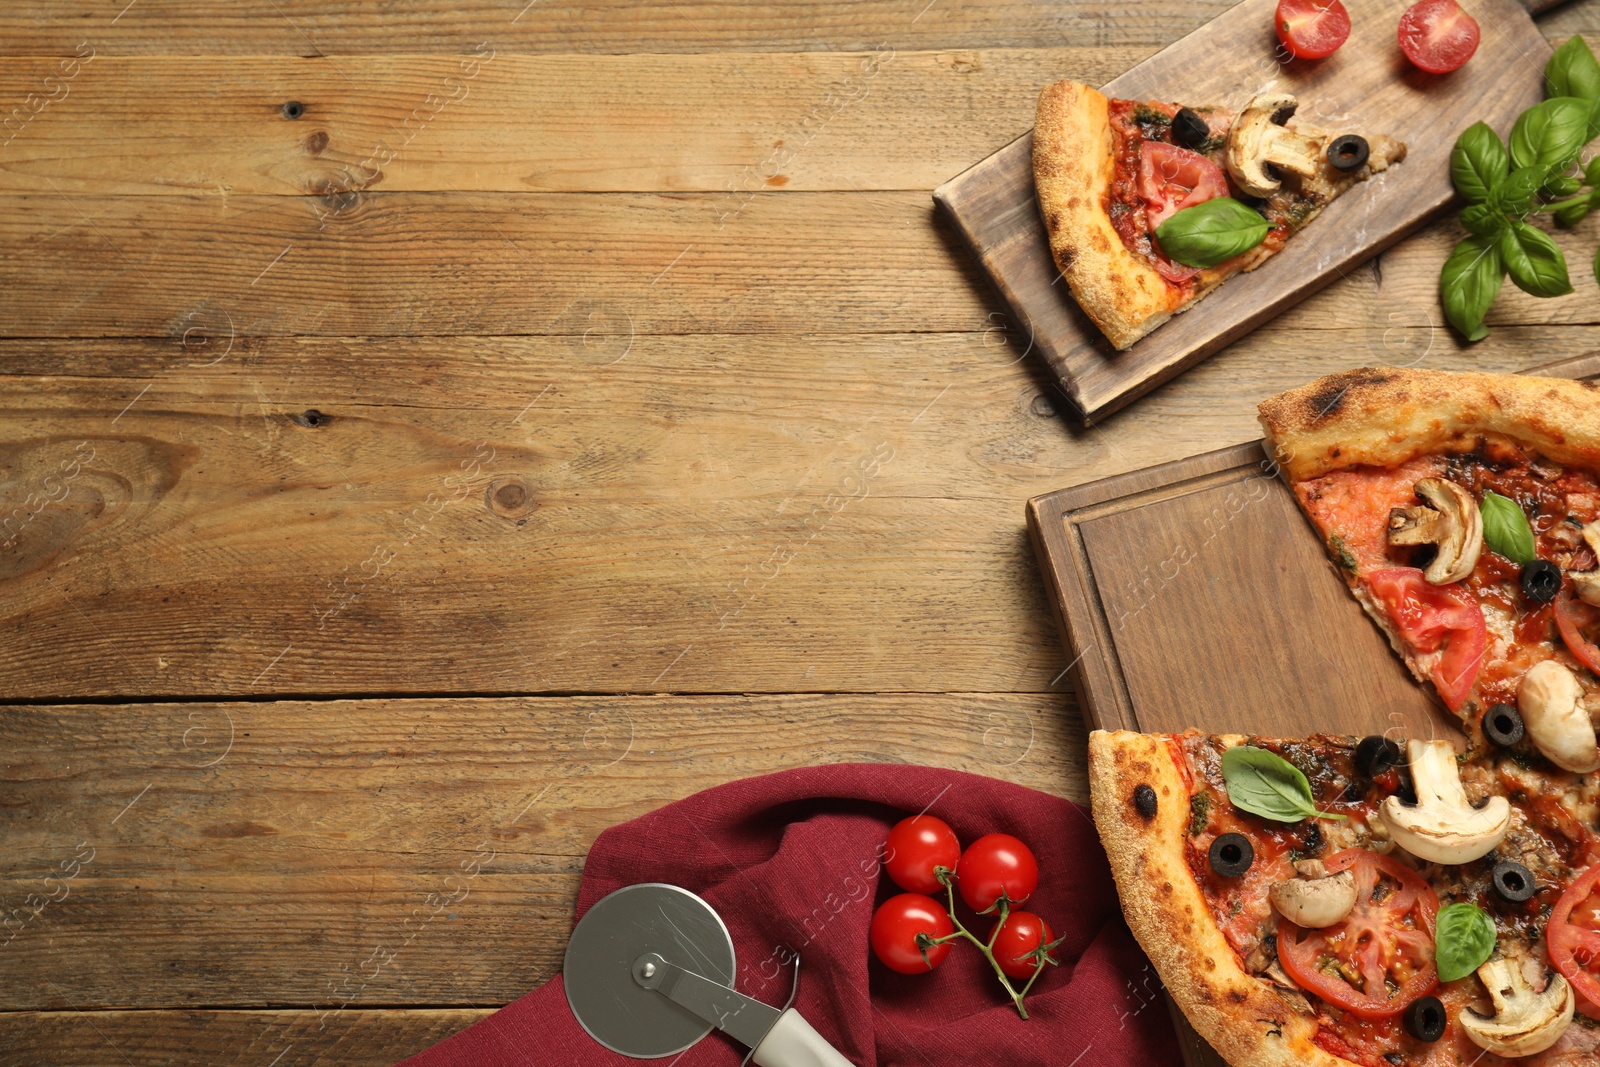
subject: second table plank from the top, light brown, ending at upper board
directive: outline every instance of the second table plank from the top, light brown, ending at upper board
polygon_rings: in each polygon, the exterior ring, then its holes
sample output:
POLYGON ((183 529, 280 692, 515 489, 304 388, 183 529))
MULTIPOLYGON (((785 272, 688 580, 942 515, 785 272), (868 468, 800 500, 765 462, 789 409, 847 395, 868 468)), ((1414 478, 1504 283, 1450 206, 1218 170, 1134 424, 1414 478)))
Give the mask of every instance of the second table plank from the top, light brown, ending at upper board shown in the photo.
POLYGON ((1062 70, 1142 54, 11 58, 0 101, 40 110, 0 126, 0 192, 922 190, 1027 130, 1062 70))

